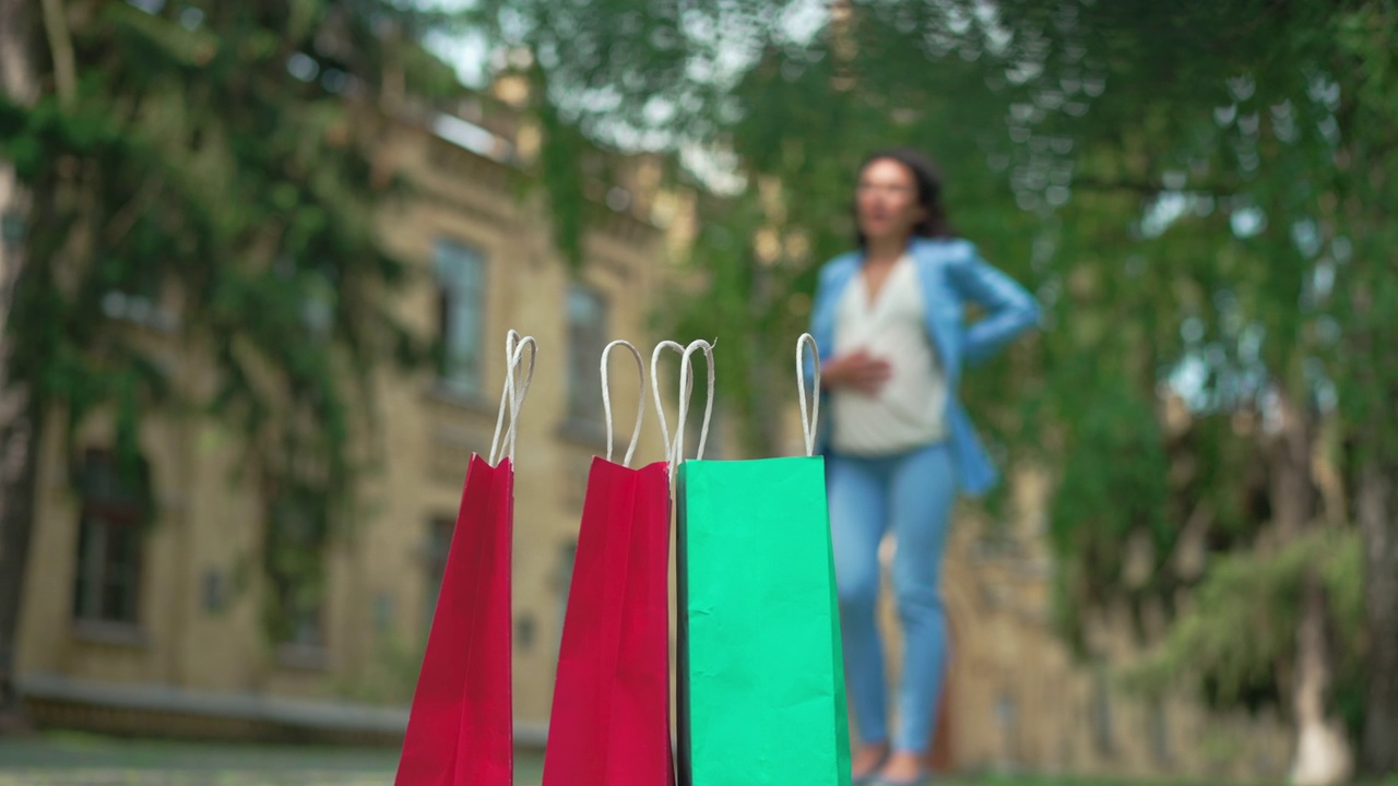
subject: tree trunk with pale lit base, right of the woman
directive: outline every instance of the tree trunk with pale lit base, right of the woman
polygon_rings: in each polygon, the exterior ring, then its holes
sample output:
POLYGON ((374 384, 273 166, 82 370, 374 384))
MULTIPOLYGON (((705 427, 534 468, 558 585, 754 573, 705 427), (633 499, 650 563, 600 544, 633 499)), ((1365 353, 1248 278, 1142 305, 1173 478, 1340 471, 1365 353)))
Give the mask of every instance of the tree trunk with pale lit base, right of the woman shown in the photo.
MULTIPOLYGON (((1272 524, 1283 543, 1303 534, 1314 520, 1316 484, 1311 450, 1316 425, 1304 406, 1282 397, 1281 429, 1271 450, 1272 524)), ((1353 752, 1343 723, 1328 715, 1335 683, 1325 589, 1314 572, 1304 579, 1296 631, 1296 670, 1292 683, 1292 715, 1296 752, 1290 782, 1296 786, 1329 786, 1349 780, 1353 752)))

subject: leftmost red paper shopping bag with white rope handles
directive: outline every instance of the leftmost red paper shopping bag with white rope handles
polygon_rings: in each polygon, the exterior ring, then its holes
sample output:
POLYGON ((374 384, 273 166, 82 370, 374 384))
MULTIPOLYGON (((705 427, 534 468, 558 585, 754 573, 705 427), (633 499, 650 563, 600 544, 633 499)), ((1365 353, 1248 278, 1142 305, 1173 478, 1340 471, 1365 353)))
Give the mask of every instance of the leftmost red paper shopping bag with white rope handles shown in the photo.
POLYGON ((513 330, 489 460, 471 456, 396 786, 512 786, 510 538, 519 410, 537 343, 513 330), (524 352, 528 366, 523 371, 524 352), (509 428, 505 418, 509 414, 509 428), (503 432, 503 438, 502 438, 503 432))

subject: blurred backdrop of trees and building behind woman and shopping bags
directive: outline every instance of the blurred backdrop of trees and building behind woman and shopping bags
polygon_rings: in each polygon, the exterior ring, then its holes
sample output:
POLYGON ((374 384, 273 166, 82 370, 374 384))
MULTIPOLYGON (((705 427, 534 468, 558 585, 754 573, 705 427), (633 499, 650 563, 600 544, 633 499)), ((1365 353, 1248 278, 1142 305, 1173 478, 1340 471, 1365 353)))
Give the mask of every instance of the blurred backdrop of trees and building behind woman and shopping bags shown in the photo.
POLYGON ((537 782, 601 348, 719 337, 710 456, 797 453, 895 144, 1047 315, 937 771, 1398 773, 1398 3, 0 0, 0 783, 387 783, 509 329, 537 782))

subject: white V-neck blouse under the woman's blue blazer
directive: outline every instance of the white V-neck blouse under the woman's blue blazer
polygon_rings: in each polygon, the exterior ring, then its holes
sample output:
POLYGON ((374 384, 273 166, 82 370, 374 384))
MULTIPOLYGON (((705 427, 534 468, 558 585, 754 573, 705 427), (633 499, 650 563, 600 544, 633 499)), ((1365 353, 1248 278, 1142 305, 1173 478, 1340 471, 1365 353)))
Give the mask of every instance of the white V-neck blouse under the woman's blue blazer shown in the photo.
POLYGON ((870 302, 864 274, 854 277, 835 320, 835 354, 858 350, 889 364, 874 396, 851 387, 832 393, 836 453, 889 456, 946 439, 946 376, 927 336, 927 308, 913 257, 903 255, 870 302))

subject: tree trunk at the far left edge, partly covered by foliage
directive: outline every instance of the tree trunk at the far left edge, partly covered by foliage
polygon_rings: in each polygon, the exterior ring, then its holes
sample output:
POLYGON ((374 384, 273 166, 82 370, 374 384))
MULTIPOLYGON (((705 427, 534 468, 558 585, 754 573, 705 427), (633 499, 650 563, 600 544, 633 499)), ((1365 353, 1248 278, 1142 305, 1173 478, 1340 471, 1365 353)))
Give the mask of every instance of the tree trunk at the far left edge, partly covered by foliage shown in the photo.
MULTIPOLYGON (((0 0, 0 91, 32 102, 35 18, 28 0, 0 0)), ((0 217, 24 217, 29 194, 0 164, 0 217)), ((38 418, 25 385, 10 373, 10 306, 24 270, 22 238, 0 238, 0 736, 28 726, 15 687, 15 639, 34 523, 38 418)))

